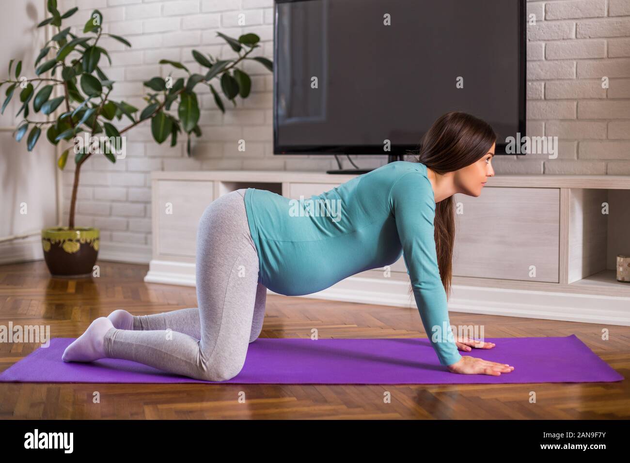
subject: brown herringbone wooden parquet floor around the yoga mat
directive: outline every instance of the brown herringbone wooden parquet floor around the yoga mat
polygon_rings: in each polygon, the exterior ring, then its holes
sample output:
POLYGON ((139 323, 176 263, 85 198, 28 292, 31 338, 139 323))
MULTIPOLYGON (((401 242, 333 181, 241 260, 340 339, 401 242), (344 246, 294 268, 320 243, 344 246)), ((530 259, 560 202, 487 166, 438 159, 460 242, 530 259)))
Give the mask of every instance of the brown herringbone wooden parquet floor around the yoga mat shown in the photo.
MULTIPOLYGON (((0 325, 50 324, 77 337, 115 309, 134 315, 197 307, 195 289, 144 283, 146 265, 99 262, 87 280, 51 278, 43 261, 0 266, 0 325)), ((611 383, 506 385, 0 383, 0 419, 625 419, 630 327, 450 312, 486 337, 576 334, 626 378, 611 383), (610 339, 602 341, 602 328, 610 339), (94 403, 95 392, 100 403, 94 403), (530 403, 530 392, 536 403, 530 403), (391 394, 391 402, 384 400, 391 394), (242 403, 242 397, 245 397, 242 403), (241 399, 239 401, 239 399, 241 399)), ((268 295, 261 338, 425 337, 413 308, 268 295), (420 330, 420 331, 418 331, 420 330)), ((0 343, 0 370, 37 343, 0 343)), ((483 352, 483 350, 474 351, 483 352)))

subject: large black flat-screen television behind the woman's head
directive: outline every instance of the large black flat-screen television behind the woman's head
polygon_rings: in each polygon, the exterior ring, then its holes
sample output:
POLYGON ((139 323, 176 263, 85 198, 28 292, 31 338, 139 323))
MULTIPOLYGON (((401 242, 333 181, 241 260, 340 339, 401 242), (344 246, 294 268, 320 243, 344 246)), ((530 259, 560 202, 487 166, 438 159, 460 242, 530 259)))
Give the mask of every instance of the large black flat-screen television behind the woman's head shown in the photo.
POLYGON ((406 154, 448 111, 505 152, 525 135, 525 20, 524 0, 277 0, 275 154, 406 154))

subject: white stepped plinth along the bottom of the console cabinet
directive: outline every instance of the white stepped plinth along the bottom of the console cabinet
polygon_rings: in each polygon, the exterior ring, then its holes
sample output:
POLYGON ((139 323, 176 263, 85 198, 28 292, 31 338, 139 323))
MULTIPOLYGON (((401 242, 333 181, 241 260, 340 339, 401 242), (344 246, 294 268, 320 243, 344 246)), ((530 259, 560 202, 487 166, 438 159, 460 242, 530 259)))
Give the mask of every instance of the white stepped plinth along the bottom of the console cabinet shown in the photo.
MULTIPOLYGON (((195 265, 152 260, 145 282, 195 286, 195 265)), ((350 277, 295 297, 416 307, 408 280, 350 277)), ((267 290, 267 294, 276 294, 267 290)), ((551 291, 452 285, 450 312, 630 326, 630 298, 551 291)))

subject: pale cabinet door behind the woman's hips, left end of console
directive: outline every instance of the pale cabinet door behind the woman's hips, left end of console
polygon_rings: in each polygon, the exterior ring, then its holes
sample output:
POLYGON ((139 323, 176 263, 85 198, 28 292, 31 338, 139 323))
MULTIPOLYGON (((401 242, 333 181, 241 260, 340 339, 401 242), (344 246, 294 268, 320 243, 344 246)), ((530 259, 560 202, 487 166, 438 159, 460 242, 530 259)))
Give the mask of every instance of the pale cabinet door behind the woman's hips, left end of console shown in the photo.
POLYGON ((194 258, 199 219, 213 198, 212 181, 157 181, 157 252, 194 258))

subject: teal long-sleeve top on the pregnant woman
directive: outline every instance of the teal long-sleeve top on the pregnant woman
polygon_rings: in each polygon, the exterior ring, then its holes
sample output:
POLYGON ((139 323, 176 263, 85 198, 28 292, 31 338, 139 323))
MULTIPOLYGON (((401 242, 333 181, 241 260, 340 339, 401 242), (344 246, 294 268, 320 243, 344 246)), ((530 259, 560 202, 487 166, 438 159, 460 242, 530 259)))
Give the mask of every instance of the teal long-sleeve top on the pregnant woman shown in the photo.
POLYGON ((440 279, 435 197, 424 164, 388 163, 310 198, 248 188, 244 200, 258 282, 278 294, 312 294, 403 254, 438 360, 450 365, 461 358, 440 279))

